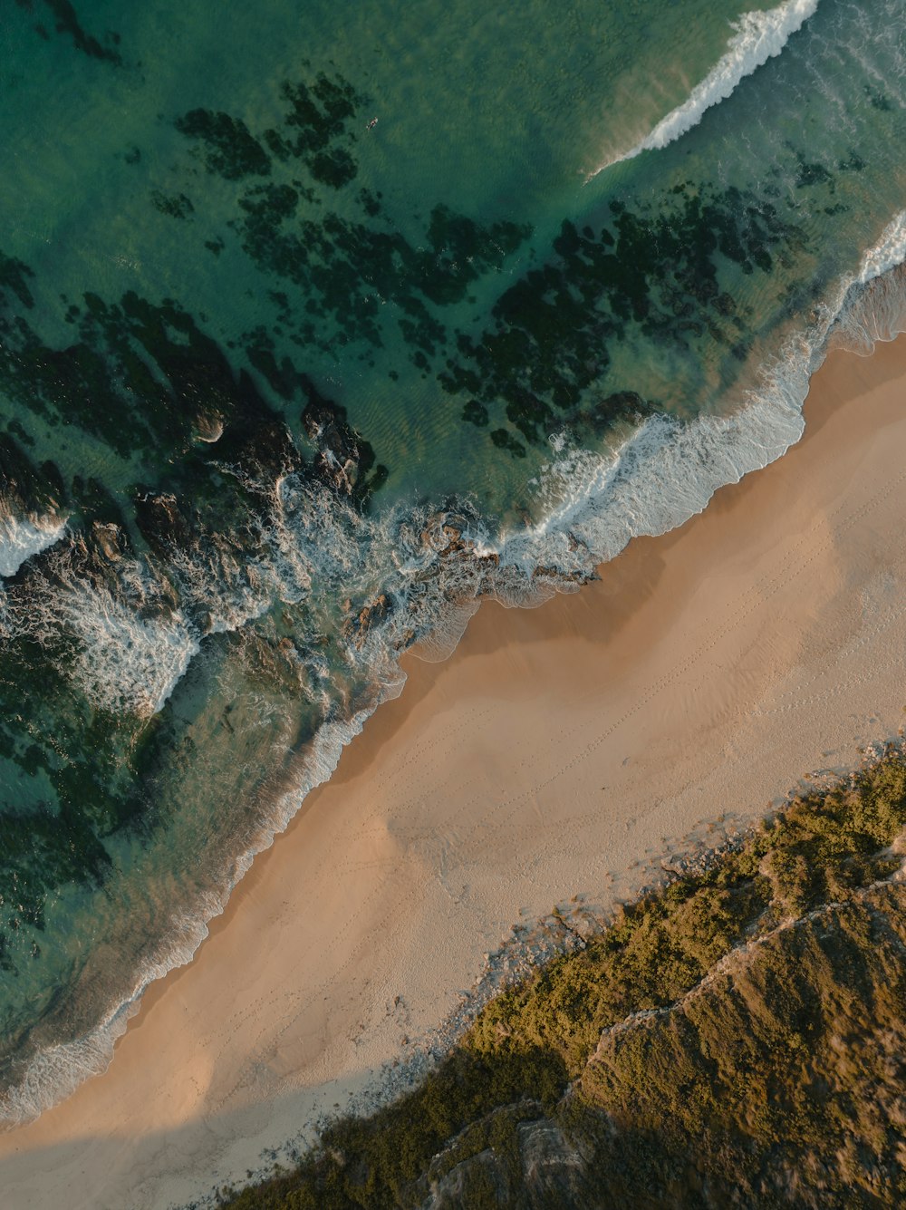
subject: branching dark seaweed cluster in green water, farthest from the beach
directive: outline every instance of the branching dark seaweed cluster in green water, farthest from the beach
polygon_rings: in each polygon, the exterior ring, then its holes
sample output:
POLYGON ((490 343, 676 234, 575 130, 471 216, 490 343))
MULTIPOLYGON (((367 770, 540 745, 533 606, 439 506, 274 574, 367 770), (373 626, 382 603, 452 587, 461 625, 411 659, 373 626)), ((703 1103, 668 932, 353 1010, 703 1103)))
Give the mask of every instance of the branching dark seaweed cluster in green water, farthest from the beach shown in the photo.
MULTIPOLYGON (((323 73, 312 83, 284 83, 281 94, 288 103, 283 121, 260 137, 241 119, 207 110, 192 110, 175 125, 202 139, 209 169, 227 180, 243 180, 253 172, 273 178, 237 195, 237 214, 229 225, 262 273, 283 278, 301 293, 294 306, 287 298, 281 307, 281 323, 294 325, 296 342, 322 348, 351 341, 381 346, 386 322, 381 311, 392 302, 412 347, 412 362, 427 371, 428 358, 446 341, 444 324, 428 305, 462 301, 469 284, 500 270, 530 229, 508 221, 483 226, 437 206, 414 244, 387 223, 379 194, 359 191, 354 202, 360 219, 328 211, 316 186, 342 189, 356 178, 351 123, 365 98, 342 76, 323 73), (300 179, 306 172, 307 184, 300 179), (329 336, 325 325, 314 322, 327 317, 339 329, 329 336)), ((223 240, 206 247, 219 254, 223 240)), ((254 344, 250 334, 244 342, 254 344)))

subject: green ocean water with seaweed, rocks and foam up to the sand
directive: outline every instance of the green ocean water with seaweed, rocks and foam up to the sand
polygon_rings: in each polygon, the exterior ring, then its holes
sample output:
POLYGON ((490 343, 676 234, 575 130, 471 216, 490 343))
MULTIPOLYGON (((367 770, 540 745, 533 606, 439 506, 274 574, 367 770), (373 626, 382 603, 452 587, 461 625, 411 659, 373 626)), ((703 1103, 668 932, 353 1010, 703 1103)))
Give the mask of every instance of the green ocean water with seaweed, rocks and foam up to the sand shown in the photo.
POLYGON ((680 524, 904 327, 905 29, 7 0, 7 1123, 109 1061, 400 651, 680 524))

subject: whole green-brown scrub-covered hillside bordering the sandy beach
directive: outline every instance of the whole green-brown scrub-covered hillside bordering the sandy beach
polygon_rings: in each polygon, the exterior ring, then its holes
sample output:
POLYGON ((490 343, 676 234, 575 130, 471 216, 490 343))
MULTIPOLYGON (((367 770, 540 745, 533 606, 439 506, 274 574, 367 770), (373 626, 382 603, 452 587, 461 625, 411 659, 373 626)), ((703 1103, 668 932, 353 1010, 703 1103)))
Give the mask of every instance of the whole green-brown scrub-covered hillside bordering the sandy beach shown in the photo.
MULTIPOLYGON (((906 1199, 906 757, 792 797, 235 1210, 906 1199)), ((567 922, 569 923, 569 922, 567 922)))

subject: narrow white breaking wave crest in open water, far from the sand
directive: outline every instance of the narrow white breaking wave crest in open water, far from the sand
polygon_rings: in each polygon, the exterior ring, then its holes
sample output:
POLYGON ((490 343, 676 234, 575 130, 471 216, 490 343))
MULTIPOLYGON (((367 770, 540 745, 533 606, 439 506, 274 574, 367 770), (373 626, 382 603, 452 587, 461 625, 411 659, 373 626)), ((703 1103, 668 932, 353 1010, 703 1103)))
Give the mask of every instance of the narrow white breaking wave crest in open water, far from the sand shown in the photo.
POLYGON ((588 179, 596 177, 599 172, 608 168, 612 163, 631 160, 641 151, 665 148, 668 143, 673 143, 686 131, 692 129, 702 121, 702 115, 706 109, 726 100, 740 80, 751 75, 773 56, 779 54, 790 35, 801 29, 816 8, 818 0, 785 0, 777 8, 769 8, 767 12, 743 13, 739 21, 732 23, 731 28, 735 33, 727 42, 726 53, 704 80, 696 85, 686 100, 662 119, 654 129, 640 143, 636 143, 630 151, 602 163, 589 174, 588 179))

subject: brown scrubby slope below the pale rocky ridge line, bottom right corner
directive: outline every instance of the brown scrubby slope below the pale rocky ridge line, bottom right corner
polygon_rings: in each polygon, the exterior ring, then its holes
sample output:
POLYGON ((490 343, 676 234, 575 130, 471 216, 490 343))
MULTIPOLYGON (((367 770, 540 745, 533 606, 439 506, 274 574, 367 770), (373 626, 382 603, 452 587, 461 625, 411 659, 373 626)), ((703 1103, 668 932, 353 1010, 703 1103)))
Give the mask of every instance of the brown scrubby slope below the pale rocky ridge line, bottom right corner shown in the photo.
MULTIPOLYGON (((417 1204, 901 1204, 905 960, 899 877, 784 922, 721 960, 680 1002, 605 1030, 554 1113, 518 1122, 508 1146, 452 1164, 438 1157, 417 1204)), ((496 1111, 483 1136, 501 1140, 494 1117, 518 1111, 496 1111)))

